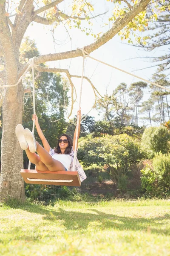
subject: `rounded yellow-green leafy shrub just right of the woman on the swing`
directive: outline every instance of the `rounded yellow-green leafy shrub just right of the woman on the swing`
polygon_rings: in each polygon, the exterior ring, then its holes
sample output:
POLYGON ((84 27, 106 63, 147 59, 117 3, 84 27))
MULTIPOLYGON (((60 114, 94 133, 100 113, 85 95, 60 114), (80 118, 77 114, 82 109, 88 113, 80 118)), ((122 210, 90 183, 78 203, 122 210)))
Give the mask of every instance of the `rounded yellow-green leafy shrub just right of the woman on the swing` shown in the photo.
POLYGON ((83 166, 96 163, 107 171, 117 183, 119 177, 130 172, 130 166, 142 157, 137 141, 127 134, 106 135, 101 138, 88 138, 82 143, 78 157, 83 166))

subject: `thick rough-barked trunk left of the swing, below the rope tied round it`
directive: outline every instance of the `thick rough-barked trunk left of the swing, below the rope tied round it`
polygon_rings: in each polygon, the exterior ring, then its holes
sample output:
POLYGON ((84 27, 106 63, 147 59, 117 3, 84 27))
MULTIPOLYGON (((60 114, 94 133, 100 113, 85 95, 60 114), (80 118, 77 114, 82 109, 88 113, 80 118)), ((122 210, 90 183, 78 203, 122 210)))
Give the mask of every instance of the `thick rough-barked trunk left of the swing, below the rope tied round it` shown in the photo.
POLYGON ((8 198, 25 199, 23 150, 17 141, 15 127, 22 123, 23 85, 9 88, 3 101, 3 134, 1 143, 0 201, 8 198))

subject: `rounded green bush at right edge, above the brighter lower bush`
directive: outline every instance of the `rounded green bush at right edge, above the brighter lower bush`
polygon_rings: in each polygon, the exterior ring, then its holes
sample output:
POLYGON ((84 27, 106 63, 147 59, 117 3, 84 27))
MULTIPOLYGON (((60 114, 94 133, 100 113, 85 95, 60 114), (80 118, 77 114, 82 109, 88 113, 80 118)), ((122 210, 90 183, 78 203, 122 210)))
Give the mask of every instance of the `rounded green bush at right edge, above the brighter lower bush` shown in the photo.
POLYGON ((154 157, 156 153, 167 154, 169 151, 170 134, 164 126, 149 127, 142 135, 142 151, 147 159, 154 157))

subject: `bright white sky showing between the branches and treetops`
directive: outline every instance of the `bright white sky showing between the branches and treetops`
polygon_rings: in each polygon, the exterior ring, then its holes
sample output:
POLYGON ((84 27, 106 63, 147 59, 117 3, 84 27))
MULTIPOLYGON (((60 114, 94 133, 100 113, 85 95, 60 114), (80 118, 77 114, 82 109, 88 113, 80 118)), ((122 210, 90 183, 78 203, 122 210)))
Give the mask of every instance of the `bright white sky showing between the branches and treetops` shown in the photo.
MULTIPOLYGON (((108 23, 108 17, 111 16, 111 10, 113 9, 113 3, 106 0, 92 0, 94 4, 95 15, 103 13, 105 11, 109 12, 101 17, 95 18, 93 20, 94 26, 92 29, 95 33, 97 32, 106 32, 108 27, 102 27, 104 23, 108 23)), ((70 6, 71 0, 65 0, 63 3, 59 4, 59 9, 63 12, 67 12, 70 6)), ((87 26, 83 21, 82 26, 87 26)), ((66 32, 64 26, 61 24, 55 30, 54 37, 59 40, 58 45, 53 44, 53 38, 50 32, 49 26, 43 26, 39 23, 34 23, 33 26, 29 26, 26 32, 26 36, 29 36, 31 39, 34 39, 35 43, 41 54, 48 54, 54 52, 65 52, 71 49, 81 48, 85 45, 91 44, 94 42, 92 36, 86 36, 85 33, 81 32, 78 29, 69 30, 70 37, 66 32)), ((161 49, 162 50, 162 49, 161 49)), ((133 73, 137 76, 141 76, 144 79, 151 79, 152 74, 156 71, 155 68, 149 68, 145 70, 135 71, 137 69, 142 69, 144 67, 149 67, 152 63, 146 62, 146 59, 136 58, 141 56, 156 56, 158 50, 153 52, 146 52, 141 48, 133 47, 127 45, 127 41, 121 41, 120 37, 116 35, 113 39, 108 41, 105 45, 91 53, 91 56, 99 60, 105 61, 108 64, 119 67, 123 70, 126 70, 130 73, 133 73)), ((68 68, 69 72, 73 75, 82 74, 82 57, 73 58, 62 61, 53 61, 48 63, 49 67, 60 67, 68 68)), ((91 78, 94 86, 99 90, 99 93, 102 95, 105 94, 106 88, 107 93, 112 93, 121 82, 125 82, 127 85, 130 83, 139 81, 139 79, 133 78, 120 71, 114 70, 111 67, 105 66, 103 64, 98 64, 98 62, 87 58, 85 60, 85 76, 91 78)), ((77 88, 77 93, 79 96, 79 87, 81 79, 72 79, 75 87, 77 88)), ((144 94, 144 99, 147 99, 149 95, 144 94)), ((87 81, 83 82, 83 96, 82 96, 82 113, 87 114, 91 110, 94 104, 94 93, 91 88, 91 85, 87 81)), ((78 103, 74 105, 74 114, 77 113, 78 103)), ((97 115, 95 110, 91 111, 91 116, 95 116, 96 119, 100 119, 101 116, 97 115)))

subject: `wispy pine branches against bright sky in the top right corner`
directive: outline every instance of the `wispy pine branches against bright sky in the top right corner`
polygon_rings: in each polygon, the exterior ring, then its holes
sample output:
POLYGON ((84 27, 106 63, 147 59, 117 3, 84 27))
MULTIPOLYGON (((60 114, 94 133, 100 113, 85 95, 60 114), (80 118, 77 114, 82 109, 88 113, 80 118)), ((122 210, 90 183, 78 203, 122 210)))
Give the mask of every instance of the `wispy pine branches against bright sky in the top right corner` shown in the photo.
MULTIPOLYGON (((161 53, 159 56, 152 56, 150 58, 154 66, 159 67, 158 73, 170 69, 170 51, 167 47, 170 45, 170 1, 156 1, 156 8, 150 6, 147 9, 147 19, 154 17, 153 22, 148 22, 146 40, 139 42, 139 47, 146 49, 147 51, 154 51, 154 49, 165 49, 165 54, 161 53), (157 9, 157 10, 156 10, 157 9)), ((158 51, 157 51, 158 52, 158 51)), ((169 74, 169 73, 168 73, 169 74)))

